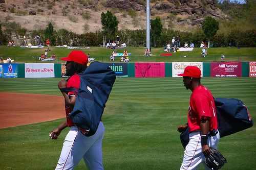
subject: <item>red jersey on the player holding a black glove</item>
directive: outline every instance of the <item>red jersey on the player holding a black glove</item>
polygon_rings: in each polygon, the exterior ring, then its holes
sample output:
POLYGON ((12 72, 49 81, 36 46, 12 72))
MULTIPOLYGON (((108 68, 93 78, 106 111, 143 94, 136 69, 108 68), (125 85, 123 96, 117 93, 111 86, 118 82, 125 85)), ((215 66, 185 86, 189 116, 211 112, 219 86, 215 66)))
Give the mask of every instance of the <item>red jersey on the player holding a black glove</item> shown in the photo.
POLYGON ((218 129, 214 98, 209 89, 200 85, 193 90, 190 96, 187 114, 189 132, 201 130, 202 117, 208 117, 209 131, 218 129))

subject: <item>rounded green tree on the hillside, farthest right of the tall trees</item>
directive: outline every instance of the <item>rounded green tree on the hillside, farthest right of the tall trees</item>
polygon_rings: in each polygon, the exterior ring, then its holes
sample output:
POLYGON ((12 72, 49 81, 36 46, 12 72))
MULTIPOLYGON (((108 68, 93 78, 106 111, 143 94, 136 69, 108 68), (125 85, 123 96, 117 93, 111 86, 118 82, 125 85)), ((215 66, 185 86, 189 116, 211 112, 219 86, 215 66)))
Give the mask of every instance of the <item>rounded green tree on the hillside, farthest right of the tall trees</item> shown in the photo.
POLYGON ((202 26, 204 35, 207 37, 208 39, 208 48, 210 46, 210 39, 212 39, 217 31, 219 30, 219 22, 217 20, 215 20, 214 18, 207 16, 206 19, 203 22, 203 26, 202 26))

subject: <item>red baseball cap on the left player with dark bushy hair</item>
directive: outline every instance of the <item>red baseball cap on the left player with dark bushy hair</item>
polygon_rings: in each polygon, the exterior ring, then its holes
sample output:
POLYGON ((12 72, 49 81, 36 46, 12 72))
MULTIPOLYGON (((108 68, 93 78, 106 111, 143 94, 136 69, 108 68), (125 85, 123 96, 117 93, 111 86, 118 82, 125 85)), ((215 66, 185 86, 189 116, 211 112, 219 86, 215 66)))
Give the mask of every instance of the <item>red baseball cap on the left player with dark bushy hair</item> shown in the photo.
POLYGON ((69 53, 68 57, 63 57, 61 60, 64 61, 74 61, 78 64, 87 65, 88 63, 88 57, 86 54, 84 54, 81 51, 74 50, 69 53))

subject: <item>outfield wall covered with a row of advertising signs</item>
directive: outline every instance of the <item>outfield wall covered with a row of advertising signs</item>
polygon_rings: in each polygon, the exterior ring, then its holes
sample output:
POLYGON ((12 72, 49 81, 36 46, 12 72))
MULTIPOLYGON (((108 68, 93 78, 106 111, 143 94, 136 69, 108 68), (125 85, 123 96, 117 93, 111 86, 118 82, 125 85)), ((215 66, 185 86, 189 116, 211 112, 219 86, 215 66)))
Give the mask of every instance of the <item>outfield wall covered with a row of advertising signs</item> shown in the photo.
MULTIPOLYGON (((203 77, 256 77, 256 62, 253 61, 106 64, 117 71, 117 77, 178 77, 188 65, 198 66, 203 77)), ((3 63, 0 78, 61 78, 61 68, 61 63, 3 63)))

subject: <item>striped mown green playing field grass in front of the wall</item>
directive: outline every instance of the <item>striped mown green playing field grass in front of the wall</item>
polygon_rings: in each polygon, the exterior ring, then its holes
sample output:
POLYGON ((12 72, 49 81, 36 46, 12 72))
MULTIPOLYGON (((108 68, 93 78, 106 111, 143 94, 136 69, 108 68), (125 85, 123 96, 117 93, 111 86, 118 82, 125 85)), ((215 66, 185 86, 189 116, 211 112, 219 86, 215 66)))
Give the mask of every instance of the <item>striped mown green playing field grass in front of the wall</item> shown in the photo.
MULTIPOLYGON (((0 91, 61 95, 58 81, 1 79, 0 91)), ((255 119, 255 78, 202 78, 202 84, 215 98, 242 100, 255 119)), ((117 78, 102 117, 104 168, 179 169, 184 150, 176 129, 186 123, 190 94, 182 78, 117 78)), ((49 132, 62 121, 0 129, 0 169, 54 169, 68 128, 58 140, 51 140, 49 132)), ((256 167, 255 133, 253 126, 221 138, 219 150, 228 161, 222 169, 256 167)), ((84 167, 81 161, 75 169, 84 167)))

